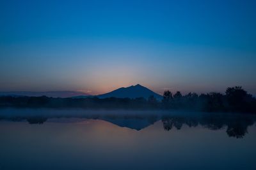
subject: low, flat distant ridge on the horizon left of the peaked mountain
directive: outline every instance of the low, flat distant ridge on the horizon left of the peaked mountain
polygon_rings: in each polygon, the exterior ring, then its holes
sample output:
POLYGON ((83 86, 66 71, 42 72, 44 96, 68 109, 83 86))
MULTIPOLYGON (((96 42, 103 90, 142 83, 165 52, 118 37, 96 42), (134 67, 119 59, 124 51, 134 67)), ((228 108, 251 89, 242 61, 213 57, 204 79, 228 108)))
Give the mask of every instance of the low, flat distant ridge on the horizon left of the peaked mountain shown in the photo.
POLYGON ((84 92, 77 91, 49 91, 49 92, 0 92, 0 96, 47 96, 47 97, 74 97, 74 96, 88 96, 84 92))

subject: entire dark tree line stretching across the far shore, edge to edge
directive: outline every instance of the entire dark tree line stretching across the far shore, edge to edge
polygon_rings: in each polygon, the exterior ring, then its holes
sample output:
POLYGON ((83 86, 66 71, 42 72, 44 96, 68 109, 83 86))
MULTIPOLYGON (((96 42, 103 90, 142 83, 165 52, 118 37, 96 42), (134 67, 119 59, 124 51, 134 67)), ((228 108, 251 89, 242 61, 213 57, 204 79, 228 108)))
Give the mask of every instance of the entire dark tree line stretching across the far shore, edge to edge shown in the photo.
POLYGON ((208 94, 189 93, 182 95, 181 92, 172 94, 166 90, 163 99, 157 101, 156 97, 148 99, 138 97, 116 98, 98 97, 77 98, 54 98, 54 97, 13 97, 1 96, 0 107, 16 108, 86 108, 86 109, 161 109, 161 110, 191 110, 207 112, 246 112, 256 113, 256 99, 248 94, 242 87, 228 87, 225 94, 211 92, 208 94))

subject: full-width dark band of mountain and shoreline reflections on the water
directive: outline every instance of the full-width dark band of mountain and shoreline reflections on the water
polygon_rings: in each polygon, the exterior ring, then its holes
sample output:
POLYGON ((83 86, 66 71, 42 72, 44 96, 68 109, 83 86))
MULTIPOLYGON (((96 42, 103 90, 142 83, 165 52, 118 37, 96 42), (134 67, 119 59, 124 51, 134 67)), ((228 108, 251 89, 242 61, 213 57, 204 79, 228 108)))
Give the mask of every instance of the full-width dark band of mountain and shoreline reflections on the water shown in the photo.
MULTIPOLYGON (((6 115, 1 114, 0 120, 11 120, 13 122, 20 122, 26 120, 29 124, 44 124, 47 120, 54 118, 79 118, 77 121, 84 121, 86 119, 104 120, 119 127, 127 127, 140 131, 146 127, 161 121, 164 131, 172 131, 173 128, 178 131, 184 127, 198 127, 199 125, 217 131, 219 129, 226 129, 227 135, 233 138, 243 138, 248 134, 248 127, 255 123, 254 115, 244 114, 228 114, 228 113, 132 113, 132 114, 68 114, 68 115, 42 115, 42 114, 23 114, 23 115, 6 115)), ((72 122, 72 121, 70 121, 72 122)))

